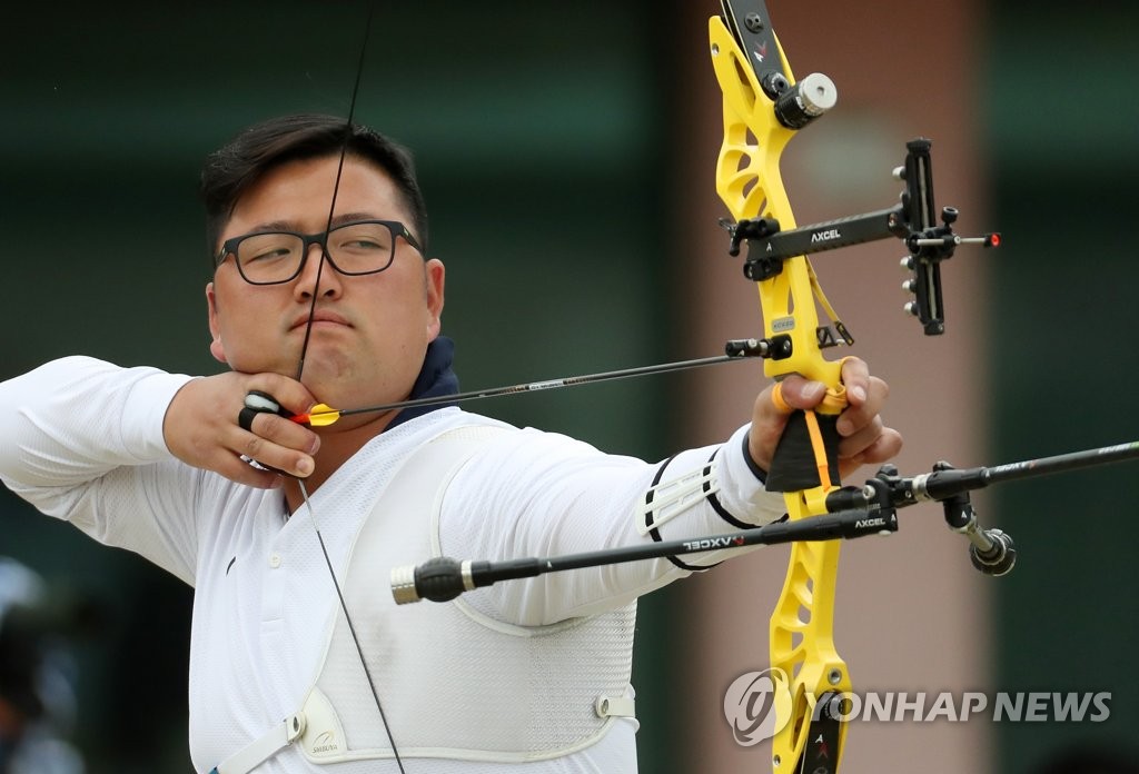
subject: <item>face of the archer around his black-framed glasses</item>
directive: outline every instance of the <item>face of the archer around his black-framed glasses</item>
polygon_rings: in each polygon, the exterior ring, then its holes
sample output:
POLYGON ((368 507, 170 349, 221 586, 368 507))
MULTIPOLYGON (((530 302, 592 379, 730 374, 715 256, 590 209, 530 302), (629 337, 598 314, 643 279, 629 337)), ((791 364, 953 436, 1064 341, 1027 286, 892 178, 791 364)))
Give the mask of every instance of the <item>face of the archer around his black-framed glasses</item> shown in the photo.
MULTIPOLYGON (((255 231, 318 233, 328 225, 338 156, 290 162, 268 173, 237 203, 221 241, 255 231)), ((347 157, 334 217, 411 224, 388 176, 347 157)), ((440 331, 443 264, 424 261, 398 240, 392 265, 377 274, 344 275, 311 246, 304 269, 280 285, 249 285, 233 257, 206 286, 214 357, 236 371, 296 376, 313 296, 314 323, 302 381, 321 402, 337 407, 399 401, 408 396, 424 352, 440 331)))

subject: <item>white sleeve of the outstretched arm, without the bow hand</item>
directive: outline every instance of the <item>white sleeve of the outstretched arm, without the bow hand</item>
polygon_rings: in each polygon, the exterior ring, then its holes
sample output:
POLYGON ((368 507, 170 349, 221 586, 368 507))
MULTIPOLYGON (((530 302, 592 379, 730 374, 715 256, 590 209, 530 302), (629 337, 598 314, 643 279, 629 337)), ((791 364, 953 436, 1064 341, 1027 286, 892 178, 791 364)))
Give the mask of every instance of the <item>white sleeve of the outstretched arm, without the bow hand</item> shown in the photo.
MULTIPOLYGON (((700 494, 666 524, 655 520, 652 533, 640 532, 644 517, 638 511, 654 481, 663 491, 688 474, 699 475, 710 461, 716 467, 714 496, 723 511, 748 524, 777 519, 782 499, 763 492, 741 460, 745 431, 721 446, 688 450, 659 463, 603 454, 556 434, 509 434, 452 480, 440 522, 442 553, 501 561, 730 532, 736 527, 700 494), (724 468, 745 475, 737 481, 724 468), (748 500, 746 505, 741 499, 748 500)), ((554 573, 499 583, 464 599, 492 618, 539 626, 623 607, 727 555, 712 552, 675 562, 658 559, 554 573)))

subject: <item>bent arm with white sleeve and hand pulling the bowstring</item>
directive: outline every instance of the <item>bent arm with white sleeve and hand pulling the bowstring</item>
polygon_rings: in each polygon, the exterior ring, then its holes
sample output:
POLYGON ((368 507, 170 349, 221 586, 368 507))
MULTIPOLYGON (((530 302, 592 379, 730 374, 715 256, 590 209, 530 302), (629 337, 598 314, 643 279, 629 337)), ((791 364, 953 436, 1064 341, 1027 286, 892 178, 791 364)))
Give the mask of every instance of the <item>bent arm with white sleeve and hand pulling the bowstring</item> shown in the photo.
POLYGON ((306 428, 273 417, 257 418, 254 431, 237 426, 251 389, 274 390, 297 410, 313 402, 273 373, 195 379, 91 357, 54 361, 0 384, 9 407, 0 413, 0 480, 43 513, 192 585, 203 470, 272 487, 279 476, 239 455, 312 469, 319 439, 306 428))

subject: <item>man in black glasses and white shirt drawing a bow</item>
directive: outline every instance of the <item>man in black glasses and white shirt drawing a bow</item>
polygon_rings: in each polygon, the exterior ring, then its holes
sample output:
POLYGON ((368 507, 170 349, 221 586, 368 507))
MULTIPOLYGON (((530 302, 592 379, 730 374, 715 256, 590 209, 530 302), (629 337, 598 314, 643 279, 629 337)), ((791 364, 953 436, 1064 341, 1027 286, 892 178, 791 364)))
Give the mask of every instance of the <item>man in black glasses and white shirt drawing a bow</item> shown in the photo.
MULTIPOLYGON (((454 406, 323 428, 243 411, 251 393, 301 414, 457 389, 440 337, 444 269, 427 257, 410 160, 345 130, 270 121, 211 157, 211 352, 231 371, 65 359, 13 379, 0 387, 16 406, 0 419, 0 476, 195 587, 199 771, 636 771, 636 599, 728 554, 404 608, 388 573, 431 555, 550 555, 768 522, 782 504, 762 471, 786 414, 769 388, 723 445, 649 464, 454 406), (673 492, 699 496, 665 509, 673 492)), ((885 384, 857 360, 843 378, 849 472, 901 438, 878 418, 885 384)), ((823 387, 790 377, 781 395, 811 407, 823 387)))

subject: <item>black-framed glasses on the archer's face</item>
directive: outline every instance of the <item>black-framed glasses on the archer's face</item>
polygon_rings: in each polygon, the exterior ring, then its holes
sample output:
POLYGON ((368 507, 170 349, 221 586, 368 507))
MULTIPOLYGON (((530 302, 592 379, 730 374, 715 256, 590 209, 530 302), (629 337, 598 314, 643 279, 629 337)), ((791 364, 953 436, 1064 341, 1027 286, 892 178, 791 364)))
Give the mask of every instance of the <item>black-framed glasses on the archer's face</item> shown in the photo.
POLYGON ((304 269, 312 245, 321 245, 333 269, 342 274, 376 274, 392 265, 395 242, 403 238, 423 247, 399 221, 357 221, 320 233, 264 231, 227 239, 214 261, 220 266, 232 255, 241 279, 249 285, 288 282, 304 269))

